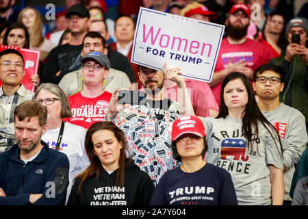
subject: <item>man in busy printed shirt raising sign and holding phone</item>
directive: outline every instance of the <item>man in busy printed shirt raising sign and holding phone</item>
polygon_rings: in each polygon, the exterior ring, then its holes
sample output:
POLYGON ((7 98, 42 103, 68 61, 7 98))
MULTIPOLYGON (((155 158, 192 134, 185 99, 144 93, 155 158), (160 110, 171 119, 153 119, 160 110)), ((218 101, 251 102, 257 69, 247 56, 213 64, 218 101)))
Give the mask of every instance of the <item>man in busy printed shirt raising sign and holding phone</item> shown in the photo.
MULTIPOLYGON (((114 121, 127 136, 127 144, 133 162, 149 174, 157 185, 160 177, 178 164, 172 157, 171 126, 179 114, 194 115, 192 104, 183 77, 178 67, 155 70, 138 66, 138 76, 146 92, 146 103, 129 103, 123 110, 118 104, 118 91, 114 92, 105 120, 114 121), (164 95, 164 80, 177 83, 182 90, 179 103, 164 95)), ((138 93, 136 94, 138 97, 138 93)), ((132 96, 134 97, 136 96, 132 96)))

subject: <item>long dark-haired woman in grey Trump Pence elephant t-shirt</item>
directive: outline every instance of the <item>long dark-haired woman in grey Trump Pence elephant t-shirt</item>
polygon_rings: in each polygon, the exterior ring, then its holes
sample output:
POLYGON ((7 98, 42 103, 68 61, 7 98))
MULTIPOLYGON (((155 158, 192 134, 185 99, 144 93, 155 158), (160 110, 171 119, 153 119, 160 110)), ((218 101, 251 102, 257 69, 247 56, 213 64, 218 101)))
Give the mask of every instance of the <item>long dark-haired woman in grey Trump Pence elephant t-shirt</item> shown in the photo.
POLYGON ((227 75, 218 116, 202 120, 209 145, 205 160, 230 172, 239 205, 282 205, 281 141, 259 110, 247 77, 227 75))

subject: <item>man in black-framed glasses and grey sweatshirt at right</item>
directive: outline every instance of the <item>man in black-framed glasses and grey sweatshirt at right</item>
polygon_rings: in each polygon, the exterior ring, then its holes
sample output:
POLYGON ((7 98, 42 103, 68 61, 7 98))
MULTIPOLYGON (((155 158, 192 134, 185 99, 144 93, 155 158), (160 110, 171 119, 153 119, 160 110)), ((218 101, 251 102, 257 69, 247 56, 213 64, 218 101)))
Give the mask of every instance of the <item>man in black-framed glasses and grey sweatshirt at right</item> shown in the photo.
POLYGON ((305 116, 298 110, 279 101, 279 94, 285 86, 285 73, 278 66, 265 64, 253 74, 253 88, 257 94, 258 106, 264 116, 274 125, 283 145, 283 178, 285 181, 284 205, 291 205, 290 186, 294 164, 306 148, 307 132, 305 116))

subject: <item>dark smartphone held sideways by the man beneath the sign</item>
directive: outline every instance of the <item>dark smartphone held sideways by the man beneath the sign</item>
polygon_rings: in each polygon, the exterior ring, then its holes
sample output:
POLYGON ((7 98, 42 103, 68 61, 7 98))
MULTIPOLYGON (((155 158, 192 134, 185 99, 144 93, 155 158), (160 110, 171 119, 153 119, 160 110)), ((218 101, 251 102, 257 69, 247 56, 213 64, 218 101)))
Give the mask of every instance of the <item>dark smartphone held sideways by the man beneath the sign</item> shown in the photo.
POLYGON ((133 90, 119 90, 118 103, 129 105, 145 105, 146 92, 133 90))

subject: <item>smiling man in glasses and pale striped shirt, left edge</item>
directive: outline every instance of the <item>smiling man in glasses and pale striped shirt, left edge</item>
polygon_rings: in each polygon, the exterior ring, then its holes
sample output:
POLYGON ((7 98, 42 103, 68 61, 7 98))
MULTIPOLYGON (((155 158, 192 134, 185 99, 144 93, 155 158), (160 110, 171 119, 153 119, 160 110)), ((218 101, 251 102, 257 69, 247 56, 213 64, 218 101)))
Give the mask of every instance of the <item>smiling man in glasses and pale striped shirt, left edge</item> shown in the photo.
POLYGON ((21 80, 25 75, 23 55, 14 49, 0 53, 0 153, 15 142, 14 110, 23 101, 31 100, 33 92, 26 90, 21 80))

